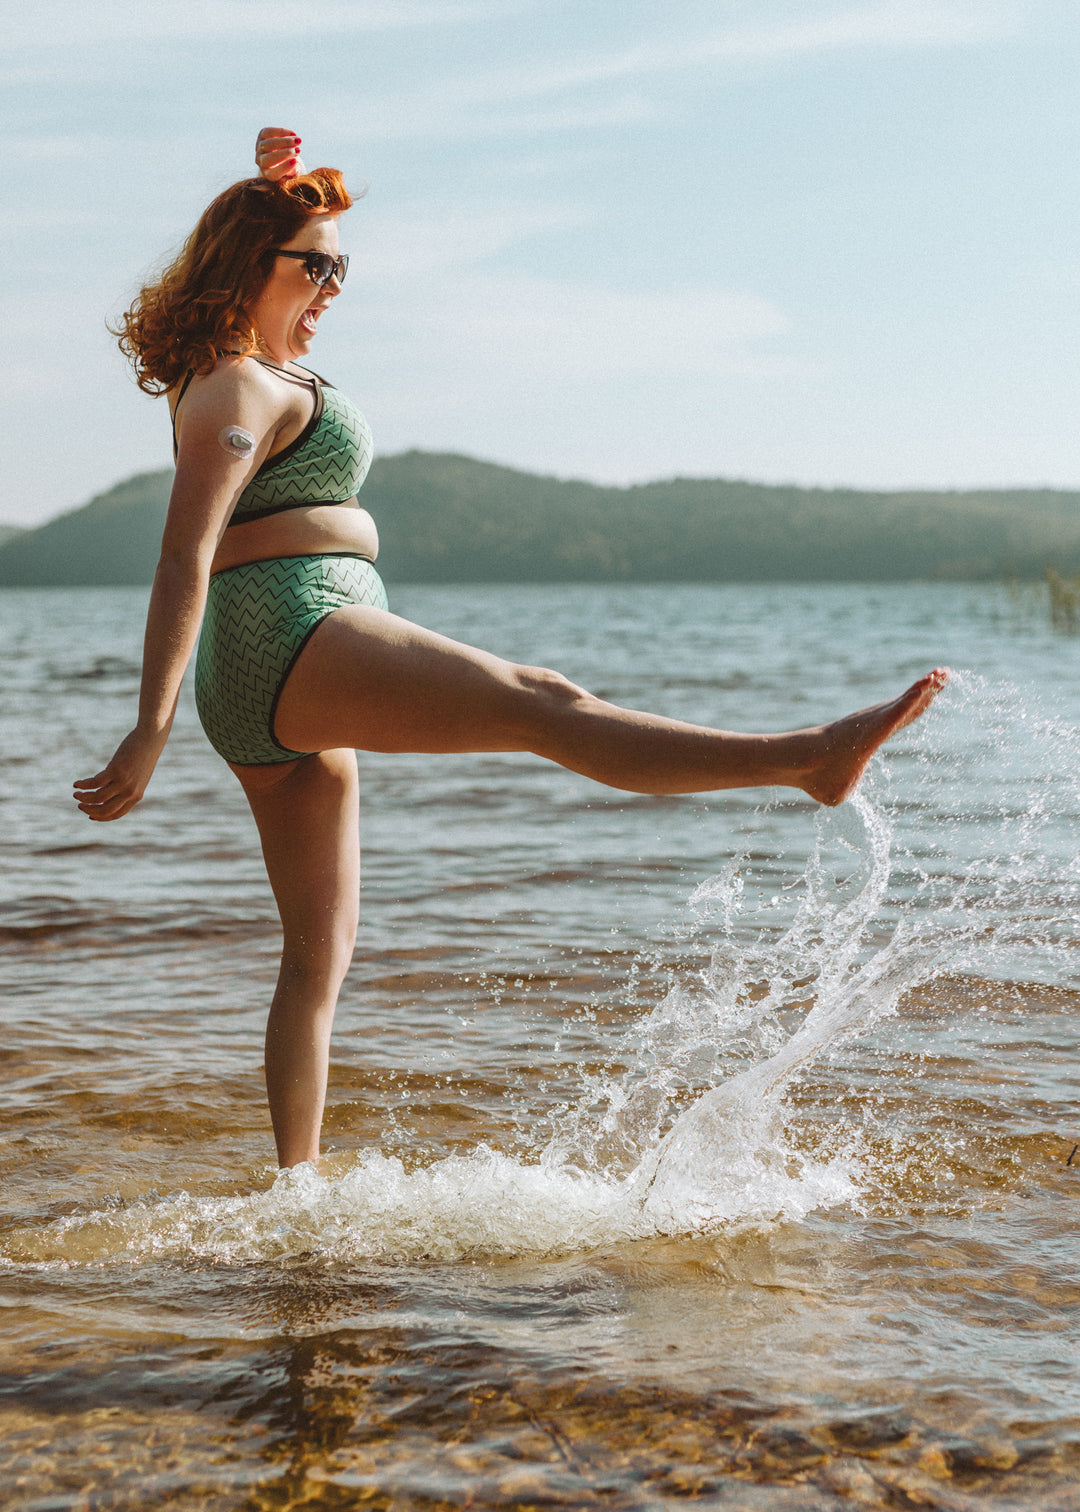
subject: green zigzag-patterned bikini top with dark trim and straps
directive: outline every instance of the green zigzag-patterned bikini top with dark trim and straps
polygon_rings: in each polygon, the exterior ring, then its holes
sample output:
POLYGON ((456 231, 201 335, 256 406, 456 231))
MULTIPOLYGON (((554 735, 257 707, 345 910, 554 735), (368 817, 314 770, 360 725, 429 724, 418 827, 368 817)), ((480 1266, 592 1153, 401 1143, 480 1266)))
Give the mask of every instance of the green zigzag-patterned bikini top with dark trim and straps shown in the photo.
MULTIPOLYGON (((284 372, 256 357, 271 372, 284 372)), ((368 476, 372 438, 368 422, 340 390, 316 373, 301 369, 312 380, 315 411, 304 429, 289 445, 268 457, 247 485, 230 516, 230 525, 245 525, 281 510, 313 503, 348 503, 368 476)), ((172 411, 172 451, 175 454, 175 413, 194 378, 188 373, 172 411)), ((296 376, 286 373, 286 376, 296 376)))

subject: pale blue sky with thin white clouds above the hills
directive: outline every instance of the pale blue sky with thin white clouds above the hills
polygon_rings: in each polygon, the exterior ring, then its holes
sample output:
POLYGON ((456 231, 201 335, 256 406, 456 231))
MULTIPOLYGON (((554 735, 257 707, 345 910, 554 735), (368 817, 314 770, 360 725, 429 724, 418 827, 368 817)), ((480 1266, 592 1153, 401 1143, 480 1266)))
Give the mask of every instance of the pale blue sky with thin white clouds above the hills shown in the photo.
POLYGON ((1075 0, 50 0, 0 47, 3 523, 168 466, 106 322, 260 125, 368 184, 310 364, 384 455, 1080 488, 1075 0))

